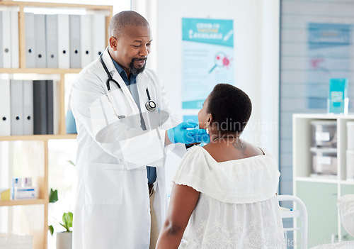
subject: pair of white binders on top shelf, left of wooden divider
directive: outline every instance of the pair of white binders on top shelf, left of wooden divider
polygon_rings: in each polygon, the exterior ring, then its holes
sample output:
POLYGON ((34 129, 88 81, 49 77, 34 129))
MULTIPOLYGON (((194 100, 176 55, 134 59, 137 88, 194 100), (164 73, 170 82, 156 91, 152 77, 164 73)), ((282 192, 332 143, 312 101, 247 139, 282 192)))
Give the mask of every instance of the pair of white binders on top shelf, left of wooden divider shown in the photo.
POLYGON ((18 11, 0 11, 0 68, 20 66, 18 48, 18 11))

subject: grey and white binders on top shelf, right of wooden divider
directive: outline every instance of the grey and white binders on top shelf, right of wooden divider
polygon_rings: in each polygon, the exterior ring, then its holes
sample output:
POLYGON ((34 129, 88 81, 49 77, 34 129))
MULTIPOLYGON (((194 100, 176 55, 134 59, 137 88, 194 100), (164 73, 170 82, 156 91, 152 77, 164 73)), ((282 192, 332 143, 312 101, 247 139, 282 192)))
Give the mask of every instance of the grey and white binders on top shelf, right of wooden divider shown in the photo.
POLYGON ((25 13, 25 65, 28 68, 82 68, 103 50, 103 14, 25 13))

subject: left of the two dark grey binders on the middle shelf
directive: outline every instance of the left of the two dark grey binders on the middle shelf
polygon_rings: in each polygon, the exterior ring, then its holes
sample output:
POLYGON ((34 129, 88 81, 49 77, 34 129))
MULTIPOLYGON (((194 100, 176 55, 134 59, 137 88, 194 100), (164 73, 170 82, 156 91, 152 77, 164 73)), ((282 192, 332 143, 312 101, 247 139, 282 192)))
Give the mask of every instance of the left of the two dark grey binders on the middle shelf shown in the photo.
POLYGON ((33 81, 33 133, 47 134, 47 81, 33 81))

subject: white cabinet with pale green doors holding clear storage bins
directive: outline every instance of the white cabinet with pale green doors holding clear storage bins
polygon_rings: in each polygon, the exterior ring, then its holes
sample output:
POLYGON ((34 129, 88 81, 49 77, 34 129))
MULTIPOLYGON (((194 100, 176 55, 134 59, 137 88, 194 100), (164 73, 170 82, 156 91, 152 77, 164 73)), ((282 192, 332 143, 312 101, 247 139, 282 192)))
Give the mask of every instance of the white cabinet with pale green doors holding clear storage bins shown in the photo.
POLYGON ((337 200, 344 194, 354 194, 354 181, 346 177, 347 123, 354 115, 294 114, 292 116, 293 189, 304 201, 309 217, 309 247, 331 240, 351 240, 341 226, 337 200), (336 123, 336 175, 312 177, 312 121, 336 123))

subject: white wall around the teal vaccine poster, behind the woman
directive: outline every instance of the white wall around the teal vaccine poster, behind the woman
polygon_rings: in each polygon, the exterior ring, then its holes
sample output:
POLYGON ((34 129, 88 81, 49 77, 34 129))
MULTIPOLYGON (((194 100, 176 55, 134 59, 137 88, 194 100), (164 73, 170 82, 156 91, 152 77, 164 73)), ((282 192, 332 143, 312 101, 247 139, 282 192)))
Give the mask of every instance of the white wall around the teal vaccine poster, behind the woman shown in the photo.
POLYGON ((173 111, 181 117, 198 113, 181 109, 181 18, 233 19, 235 85, 249 94, 253 102, 251 121, 241 138, 253 141, 278 158, 279 0, 156 2, 152 56, 156 53, 156 70, 166 86, 173 111))

